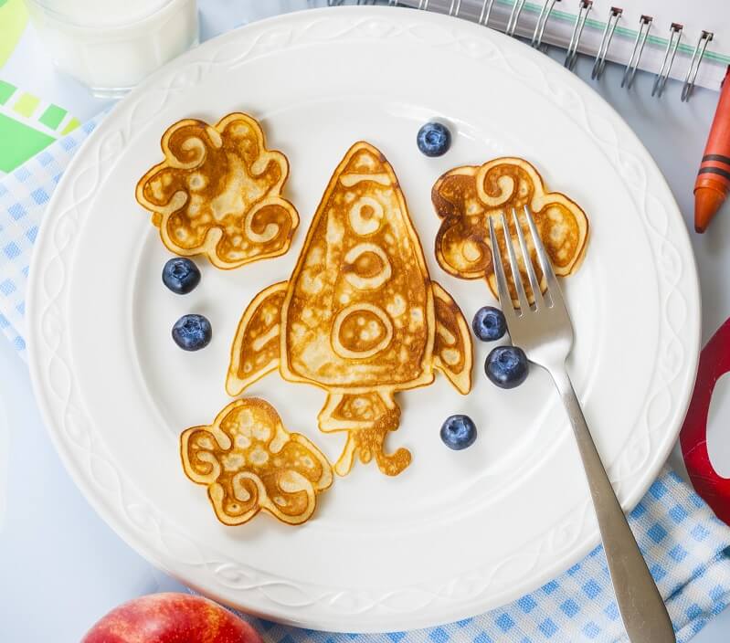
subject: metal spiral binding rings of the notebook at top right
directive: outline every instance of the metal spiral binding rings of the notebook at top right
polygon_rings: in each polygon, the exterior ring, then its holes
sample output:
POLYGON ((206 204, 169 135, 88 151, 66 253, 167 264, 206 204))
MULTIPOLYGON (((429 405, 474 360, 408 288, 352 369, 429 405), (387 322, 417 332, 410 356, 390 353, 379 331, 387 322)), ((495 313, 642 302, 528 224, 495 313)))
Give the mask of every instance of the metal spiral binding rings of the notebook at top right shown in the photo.
MULTIPOLYGON (((344 5, 346 0, 327 0, 327 5, 338 6, 344 5)), ((382 2, 383 0, 381 0, 382 2)), ((545 37, 545 26, 550 21, 550 17, 553 14, 555 3, 565 2, 567 4, 569 0, 544 0, 541 5, 540 12, 537 16, 537 21, 534 25, 534 31, 530 38, 531 47, 541 49, 545 51, 546 46, 543 44, 545 37)), ((575 0, 574 0, 575 1, 575 0)), ((375 5, 380 4, 378 0, 355 0, 357 5, 375 5)), ((406 2, 404 0, 386 0, 387 5, 390 6, 407 6, 413 9, 421 11, 439 11, 440 13, 447 13, 453 17, 465 17, 461 16, 462 5, 468 4, 463 3, 463 0, 440 0, 440 5, 446 4, 446 6, 434 7, 431 5, 431 0, 410 0, 406 2)), ((577 0, 578 3, 578 15, 576 22, 573 25, 573 32, 570 37, 570 42, 567 46, 566 59, 564 65, 567 69, 574 69, 577 62, 578 47, 580 46, 580 39, 583 36, 583 30, 587 23, 588 14, 593 8, 593 0, 577 0)), ((471 17, 472 19, 481 26, 490 26, 490 18, 492 17, 492 8, 495 5, 495 0, 481 0, 481 3, 474 2, 478 10, 477 17, 471 17)), ((497 4, 504 4, 503 2, 497 2, 497 4)), ((526 5, 526 0, 513 0, 512 9, 510 11, 509 18, 507 19, 507 25, 504 29, 504 33, 508 36, 515 36, 517 34, 517 27, 520 23, 520 18, 523 15, 523 9, 526 5)), ((611 45, 611 40, 616 32, 616 27, 619 24, 619 20, 623 14, 623 9, 618 6, 612 6, 608 13, 608 20, 603 29, 601 36, 600 45, 596 58, 593 61, 593 69, 591 69, 591 79, 598 80, 601 78, 604 69, 606 68, 606 60, 608 55, 608 49, 611 45)), ((473 14, 472 14, 473 16, 473 14)), ((626 68, 624 69, 623 76, 621 78, 621 87, 630 90, 636 72, 639 69, 639 63, 641 55, 644 51, 644 46, 647 43, 649 32, 651 30, 653 19, 651 16, 641 16, 639 22, 639 29, 636 32, 636 38, 631 49, 631 55, 626 68)), ((682 39, 683 26, 678 23, 672 23, 670 27, 669 38, 667 39, 667 46, 664 49, 664 56, 661 61, 661 68, 654 77, 654 82, 651 88, 651 96, 660 98, 667 80, 669 79, 670 72, 672 71, 672 65, 674 58, 676 57, 677 51, 680 46, 680 40, 682 39)), ((697 45, 694 47, 693 55, 690 60, 689 69, 684 76, 682 84, 682 101, 686 102, 690 100, 694 84, 697 79, 697 74, 702 64, 707 45, 712 41, 713 33, 711 31, 703 31, 697 40, 697 45)))

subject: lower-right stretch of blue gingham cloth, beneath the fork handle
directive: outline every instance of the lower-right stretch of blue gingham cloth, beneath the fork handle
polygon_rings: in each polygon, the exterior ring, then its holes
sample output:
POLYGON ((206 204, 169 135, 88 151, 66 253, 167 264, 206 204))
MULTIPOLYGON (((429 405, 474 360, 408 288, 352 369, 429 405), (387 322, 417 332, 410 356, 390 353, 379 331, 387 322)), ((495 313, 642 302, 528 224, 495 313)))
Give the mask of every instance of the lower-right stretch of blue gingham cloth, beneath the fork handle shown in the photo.
MULTIPOLYGON (((629 515, 677 640, 688 641, 730 600, 730 529, 670 469, 629 515)), ((244 615, 241 615, 246 618, 244 615)), ((276 643, 576 643, 624 642, 606 556, 597 547, 580 563, 508 606, 457 623, 409 632, 332 634, 249 618, 276 643)), ((730 640, 730 637, 728 638, 730 640)))

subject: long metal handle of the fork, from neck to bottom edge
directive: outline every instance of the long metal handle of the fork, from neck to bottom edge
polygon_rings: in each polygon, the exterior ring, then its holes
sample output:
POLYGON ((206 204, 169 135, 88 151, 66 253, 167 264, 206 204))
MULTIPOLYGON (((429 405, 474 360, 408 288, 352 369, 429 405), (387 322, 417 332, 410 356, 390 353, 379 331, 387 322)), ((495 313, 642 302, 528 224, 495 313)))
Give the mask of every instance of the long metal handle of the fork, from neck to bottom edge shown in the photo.
POLYGON ((616 603, 631 643, 675 641, 672 620, 603 467, 565 364, 550 369, 576 436, 616 603))

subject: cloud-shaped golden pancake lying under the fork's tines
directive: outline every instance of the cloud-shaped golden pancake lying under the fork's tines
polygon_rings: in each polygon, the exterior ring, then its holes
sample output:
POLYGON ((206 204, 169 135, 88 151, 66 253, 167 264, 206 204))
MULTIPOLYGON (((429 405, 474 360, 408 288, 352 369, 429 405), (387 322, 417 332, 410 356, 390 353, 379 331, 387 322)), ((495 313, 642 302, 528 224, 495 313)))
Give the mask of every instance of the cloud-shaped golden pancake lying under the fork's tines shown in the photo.
MULTIPOLYGON (((531 208, 540 238, 550 256, 555 274, 566 277, 580 264, 586 250, 588 219, 574 201, 559 192, 548 192, 543 179, 524 159, 499 158, 481 166, 456 167, 439 177, 431 190, 436 213, 443 219, 436 236, 436 258, 439 266, 460 279, 486 279, 492 294, 497 296, 492 249, 489 237, 489 217, 492 216, 497 238, 506 262, 502 213, 508 219, 510 237, 518 248, 517 232, 512 211, 516 210, 520 226, 537 266, 534 245, 524 206, 531 208)), ((534 301, 524 272, 522 254, 520 271, 528 299, 534 301)), ((506 265, 506 263, 505 263, 506 265)), ((545 279, 538 270, 541 286, 545 279)), ((516 291, 510 269, 505 270, 515 305, 516 291)))

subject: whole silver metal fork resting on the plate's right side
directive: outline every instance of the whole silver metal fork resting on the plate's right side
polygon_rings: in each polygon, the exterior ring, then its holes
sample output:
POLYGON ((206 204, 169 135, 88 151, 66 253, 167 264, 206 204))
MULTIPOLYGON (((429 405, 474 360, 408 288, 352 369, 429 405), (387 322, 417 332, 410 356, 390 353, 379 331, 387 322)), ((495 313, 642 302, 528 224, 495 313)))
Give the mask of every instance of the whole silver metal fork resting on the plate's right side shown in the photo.
POLYGON ((489 234, 492 241, 492 259, 497 280, 500 303, 507 320, 510 337, 520 346, 527 358, 545 368, 552 376, 560 399, 566 406, 567 416, 573 427, 578 451, 586 471, 590 495, 598 518, 603 548, 606 552, 608 570, 613 581, 616 602, 624 627, 631 643, 668 643, 674 641, 672 621, 649 569, 634 540, 633 533, 621 510, 610 480, 603 468, 598 450, 593 442, 583 416, 576 392, 566 370, 566 357, 573 347, 573 324, 563 300, 560 286, 543 243, 537 234, 533 216, 527 206, 524 214, 533 237, 534 248, 545 276, 547 290, 545 297, 538 283, 534 266, 528 252, 517 213, 513 210, 513 221, 524 259, 524 269, 534 294, 531 307, 525 294, 517 257, 509 235, 507 216, 502 213, 505 246, 512 269, 513 281, 520 302, 519 309, 513 306, 512 295, 504 277, 502 255, 497 244, 492 217, 489 220, 489 234))

